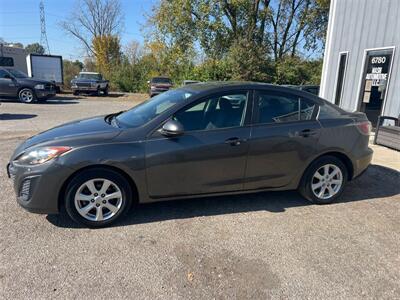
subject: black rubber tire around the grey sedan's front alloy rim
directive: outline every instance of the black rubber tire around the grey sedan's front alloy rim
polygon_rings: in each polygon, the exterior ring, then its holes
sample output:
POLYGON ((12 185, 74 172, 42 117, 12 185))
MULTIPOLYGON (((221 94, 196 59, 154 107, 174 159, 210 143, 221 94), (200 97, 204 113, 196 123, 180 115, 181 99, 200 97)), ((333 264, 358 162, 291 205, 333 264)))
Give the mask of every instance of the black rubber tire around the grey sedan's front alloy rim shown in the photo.
MULTIPOLYGON (((100 197, 100 195, 99 195, 100 197)), ((88 204, 89 201, 87 201, 88 204)), ((91 201, 94 202, 94 201, 91 201)), ((97 200, 96 200, 97 202, 97 200)), ((78 173, 68 184, 66 188, 66 193, 65 193, 65 208, 68 213, 68 215, 77 223, 83 224, 87 227, 91 228, 99 228, 99 227, 105 227, 110 225, 111 223, 115 222, 117 219, 120 219, 123 217, 131 208, 132 206, 132 189, 130 187, 129 182, 125 179, 124 176, 119 174, 118 172, 115 172, 113 170, 107 169, 107 168, 95 168, 95 169, 89 169, 86 171, 83 171, 81 173, 78 173), (112 217, 102 220, 102 221, 96 221, 96 220, 89 220, 88 218, 90 217, 90 211, 88 211, 87 218, 83 217, 77 210, 77 207, 75 205, 75 195, 78 191, 78 189, 85 184, 85 182, 92 180, 92 179, 106 179, 110 180, 112 183, 116 184, 119 190, 121 191, 122 194, 122 203, 119 208, 119 210, 113 215, 112 217)), ((95 203, 93 203, 95 205, 95 203)), ((97 205, 97 203, 96 203, 97 205)), ((100 205, 100 204, 99 204, 100 205)), ((84 206, 85 207, 85 206, 84 206)), ((83 207, 83 208, 84 208, 83 207)), ((97 212, 96 207, 93 207, 93 209, 97 212)), ((107 212, 107 208, 100 208, 102 212, 104 213, 104 209, 107 212)), ((92 210, 91 210, 92 211, 92 210)), ((111 211, 110 211, 111 213, 111 211)), ((92 213, 94 214, 94 212, 92 213)), ((105 216, 105 215, 104 215, 105 216)))

